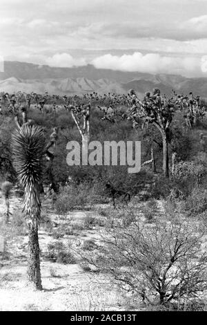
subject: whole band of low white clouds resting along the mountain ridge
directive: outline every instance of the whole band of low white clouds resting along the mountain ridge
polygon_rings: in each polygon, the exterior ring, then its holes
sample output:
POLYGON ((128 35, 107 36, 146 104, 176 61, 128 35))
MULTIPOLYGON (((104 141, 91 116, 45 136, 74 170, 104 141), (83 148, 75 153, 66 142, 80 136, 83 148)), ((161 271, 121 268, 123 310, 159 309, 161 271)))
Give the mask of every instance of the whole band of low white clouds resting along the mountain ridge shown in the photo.
MULTIPOLYGON (((26 60, 27 61, 27 60, 26 60)), ((41 62, 49 66, 72 68, 92 64, 95 68, 110 69, 114 71, 128 71, 141 73, 167 73, 184 75, 186 77, 207 77, 207 55, 161 55, 159 53, 141 53, 112 55, 110 53, 98 55, 91 59, 73 56, 69 53, 56 53, 50 57, 41 56, 41 62)))

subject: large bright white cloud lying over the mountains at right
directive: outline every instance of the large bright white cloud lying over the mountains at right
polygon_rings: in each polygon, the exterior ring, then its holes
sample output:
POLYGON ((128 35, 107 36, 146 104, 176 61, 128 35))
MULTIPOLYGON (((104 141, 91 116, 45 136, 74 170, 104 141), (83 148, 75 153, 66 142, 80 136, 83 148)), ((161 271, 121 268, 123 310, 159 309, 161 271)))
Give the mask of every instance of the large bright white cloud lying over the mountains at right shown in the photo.
MULTIPOLYGON (((132 55, 102 55, 92 60, 96 68, 108 68, 119 71, 139 71, 142 73, 176 73, 189 75, 201 70, 199 57, 170 57, 158 53, 142 54, 135 52, 132 55)), ((203 65, 205 66, 205 62, 203 65)))

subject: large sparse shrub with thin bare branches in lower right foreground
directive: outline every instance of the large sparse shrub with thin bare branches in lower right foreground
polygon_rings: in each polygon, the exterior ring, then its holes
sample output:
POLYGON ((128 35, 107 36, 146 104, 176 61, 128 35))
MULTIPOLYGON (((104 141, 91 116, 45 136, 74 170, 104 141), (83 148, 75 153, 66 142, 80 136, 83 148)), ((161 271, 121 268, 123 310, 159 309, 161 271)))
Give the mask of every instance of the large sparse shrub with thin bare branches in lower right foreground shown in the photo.
POLYGON ((85 259, 122 289, 148 304, 197 298, 206 290, 206 252, 196 224, 174 216, 156 223, 134 221, 101 232, 103 245, 85 259))

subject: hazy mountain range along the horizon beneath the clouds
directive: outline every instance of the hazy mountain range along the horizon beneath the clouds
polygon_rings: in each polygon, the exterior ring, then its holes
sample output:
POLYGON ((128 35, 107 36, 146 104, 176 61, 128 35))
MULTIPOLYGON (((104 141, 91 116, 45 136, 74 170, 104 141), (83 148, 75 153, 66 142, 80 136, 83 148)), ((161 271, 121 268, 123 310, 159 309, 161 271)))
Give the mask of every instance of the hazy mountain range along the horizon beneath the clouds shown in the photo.
POLYGON ((4 72, 0 72, 0 91, 12 93, 25 91, 30 93, 81 94, 95 91, 97 93, 127 93, 135 89, 139 96, 153 88, 161 93, 188 94, 207 97, 207 78, 188 78, 181 75, 168 75, 139 72, 113 71, 97 69, 95 66, 79 66, 74 68, 56 68, 26 62, 4 62, 4 72))

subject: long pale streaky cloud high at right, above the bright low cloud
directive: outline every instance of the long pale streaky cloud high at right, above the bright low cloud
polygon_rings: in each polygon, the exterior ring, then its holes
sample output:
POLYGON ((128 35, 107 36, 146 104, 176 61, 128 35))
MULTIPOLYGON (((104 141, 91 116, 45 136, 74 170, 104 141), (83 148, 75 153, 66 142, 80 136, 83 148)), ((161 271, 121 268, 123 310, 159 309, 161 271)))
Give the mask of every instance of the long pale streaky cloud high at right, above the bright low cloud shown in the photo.
POLYGON ((98 39, 111 37, 113 39, 144 39, 157 38, 177 41, 207 38, 207 15, 193 17, 185 21, 169 19, 164 21, 148 21, 139 19, 132 21, 98 21, 91 24, 81 24, 74 30, 79 37, 98 39))

